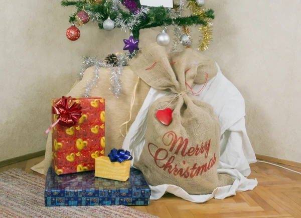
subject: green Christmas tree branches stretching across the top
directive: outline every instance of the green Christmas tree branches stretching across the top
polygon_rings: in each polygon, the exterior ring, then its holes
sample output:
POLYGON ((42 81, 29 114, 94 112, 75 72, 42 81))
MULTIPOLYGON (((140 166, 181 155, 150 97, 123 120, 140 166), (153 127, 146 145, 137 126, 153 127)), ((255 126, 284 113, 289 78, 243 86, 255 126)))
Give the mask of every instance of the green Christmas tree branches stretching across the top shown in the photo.
MULTIPOLYGON (((147 7, 147 14, 137 15, 139 11, 142 10, 143 6, 140 5, 139 0, 131 0, 132 3, 136 4, 136 10, 133 11, 130 9, 127 4, 129 4, 130 0, 121 0, 121 3, 125 5, 128 10, 124 10, 120 6, 115 5, 115 9, 112 10, 114 6, 112 1, 102 0, 98 3, 91 3, 91 0, 62 0, 61 4, 63 6, 74 5, 77 7, 76 11, 70 15, 69 22, 74 23, 76 21, 76 14, 84 9, 87 11, 91 11, 94 13, 101 14, 101 17, 97 19, 98 27, 103 29, 103 21, 105 21, 108 16, 112 20, 119 19, 119 25, 115 27, 120 27, 125 29, 130 29, 132 31, 133 37, 135 39, 139 38, 140 29, 145 28, 154 28, 157 26, 168 26, 168 25, 183 25, 183 26, 191 26, 193 24, 201 25, 201 26, 209 26, 210 20, 214 19, 214 10, 213 9, 202 9, 198 6, 196 0, 187 0, 188 8, 192 10, 192 15, 190 16, 173 16, 171 13, 171 9, 165 8, 163 6, 160 7, 147 7), (134 21, 133 21, 134 20, 134 21)), ((116 3, 115 3, 116 4, 116 3)), ((119 5, 119 4, 118 4, 119 5)), ((173 10, 177 11, 179 9, 179 4, 174 4, 173 10)), ((209 31, 207 31, 210 33, 209 31)), ((210 35, 209 35, 210 36, 210 35)), ((211 38, 211 36, 208 38, 211 38)), ((206 42, 206 43, 209 43, 206 42)))

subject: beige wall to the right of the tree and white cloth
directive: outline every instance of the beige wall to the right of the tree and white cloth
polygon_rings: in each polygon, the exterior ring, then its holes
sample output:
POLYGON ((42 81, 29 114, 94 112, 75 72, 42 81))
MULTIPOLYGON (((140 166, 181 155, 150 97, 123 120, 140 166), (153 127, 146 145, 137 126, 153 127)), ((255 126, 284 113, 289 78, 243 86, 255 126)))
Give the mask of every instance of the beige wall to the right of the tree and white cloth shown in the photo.
POLYGON ((208 52, 245 98, 255 153, 301 162, 301 1, 207 0, 208 52))

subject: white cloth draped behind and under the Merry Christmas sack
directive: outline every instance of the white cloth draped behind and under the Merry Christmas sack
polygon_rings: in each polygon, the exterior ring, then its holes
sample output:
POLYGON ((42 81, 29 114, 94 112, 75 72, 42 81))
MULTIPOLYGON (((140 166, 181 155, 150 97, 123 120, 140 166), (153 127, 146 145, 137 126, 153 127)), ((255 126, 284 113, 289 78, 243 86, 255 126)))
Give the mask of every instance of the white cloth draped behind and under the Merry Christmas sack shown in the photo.
MULTIPOLYGON (((222 74, 218 67, 217 75, 207 81, 200 95, 194 97, 209 103, 219 117, 221 126, 220 158, 217 172, 227 173, 235 181, 232 185, 217 187, 211 194, 189 194, 181 187, 172 184, 150 186, 150 199, 159 199, 165 192, 170 192, 192 202, 205 202, 211 198, 224 199, 235 195, 236 191, 252 190, 257 185, 256 179, 247 179, 251 173, 249 163, 256 162, 256 157, 245 127, 244 98, 238 89, 222 74)), ((195 91, 203 84, 194 85, 195 91)), ((148 107, 159 97, 171 92, 150 88, 135 121, 129 128, 123 141, 123 148, 133 156, 132 163, 139 159, 145 143, 148 107)))

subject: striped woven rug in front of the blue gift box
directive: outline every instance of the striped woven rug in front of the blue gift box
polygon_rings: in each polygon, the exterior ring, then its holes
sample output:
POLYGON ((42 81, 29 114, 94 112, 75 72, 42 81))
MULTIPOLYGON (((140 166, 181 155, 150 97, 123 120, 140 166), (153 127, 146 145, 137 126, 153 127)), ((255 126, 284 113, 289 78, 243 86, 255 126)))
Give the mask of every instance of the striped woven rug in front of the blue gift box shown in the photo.
POLYGON ((0 173, 0 217, 157 217, 128 206, 44 206, 45 180, 21 169, 0 173))

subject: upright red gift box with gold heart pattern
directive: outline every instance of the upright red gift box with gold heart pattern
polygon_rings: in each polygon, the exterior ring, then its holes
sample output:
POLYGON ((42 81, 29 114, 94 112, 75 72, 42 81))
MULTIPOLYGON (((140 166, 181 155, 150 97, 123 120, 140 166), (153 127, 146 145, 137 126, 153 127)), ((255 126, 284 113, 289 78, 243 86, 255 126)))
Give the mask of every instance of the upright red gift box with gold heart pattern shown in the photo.
MULTIPOLYGON (((60 98, 53 98, 51 105, 60 98)), ((59 123, 52 128, 52 168, 57 174, 95 169, 95 158, 105 155, 105 99, 74 98, 82 107, 79 121, 71 126, 59 123)), ((58 118, 52 114, 52 123, 58 118)))

